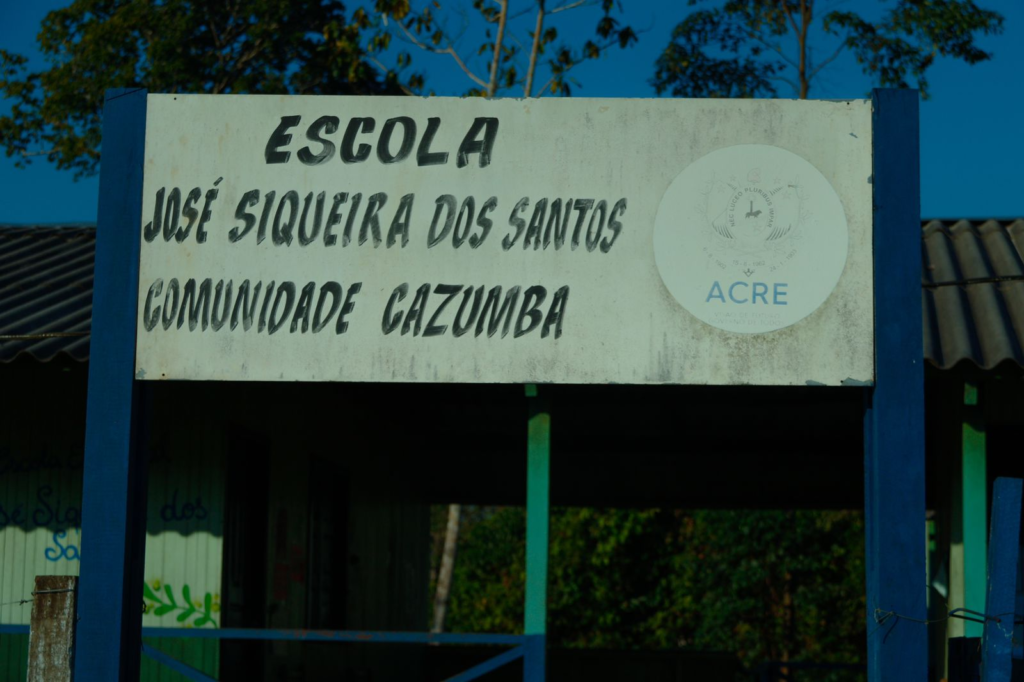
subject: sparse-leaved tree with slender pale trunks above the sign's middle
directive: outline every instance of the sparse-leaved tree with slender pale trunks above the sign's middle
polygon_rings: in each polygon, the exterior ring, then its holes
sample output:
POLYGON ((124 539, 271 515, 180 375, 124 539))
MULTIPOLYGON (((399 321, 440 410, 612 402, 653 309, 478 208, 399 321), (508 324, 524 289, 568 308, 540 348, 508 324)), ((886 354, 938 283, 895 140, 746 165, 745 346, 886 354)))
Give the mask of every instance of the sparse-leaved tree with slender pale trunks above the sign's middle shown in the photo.
MULTIPOLYGON (((476 14, 471 15, 466 3, 453 2, 444 9, 438 1, 416 4, 411 0, 378 0, 381 24, 372 47, 411 48, 398 52, 396 70, 410 68, 413 50, 451 57, 471 83, 467 95, 494 97, 508 92, 530 97, 570 94, 574 83, 569 72, 573 68, 615 46, 629 47, 637 40, 636 32, 614 17, 615 0, 531 0, 515 4, 513 9, 509 0, 472 0, 476 14), (551 24, 563 12, 579 13, 588 8, 600 9, 594 38, 579 46, 559 41, 558 30, 551 24), (456 23, 458 28, 452 29, 456 23), (468 48, 462 45, 467 33, 480 34, 468 48), (523 34, 526 40, 520 37, 523 34), (538 87, 542 66, 550 78, 538 87)), ((411 94, 421 92, 425 83, 422 77, 411 77, 409 82, 413 85, 411 94)))

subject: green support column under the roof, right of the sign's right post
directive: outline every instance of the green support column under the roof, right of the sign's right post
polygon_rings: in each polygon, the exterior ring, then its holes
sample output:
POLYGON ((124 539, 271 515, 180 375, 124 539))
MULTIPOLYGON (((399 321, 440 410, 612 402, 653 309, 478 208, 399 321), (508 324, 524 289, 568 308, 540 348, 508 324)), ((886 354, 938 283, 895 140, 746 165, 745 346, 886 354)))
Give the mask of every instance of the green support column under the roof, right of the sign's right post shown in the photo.
MULTIPOLYGON (((963 522, 964 603, 985 610, 988 556, 988 471, 985 451, 985 420, 978 403, 978 386, 964 384, 963 430, 963 522)), ((965 635, 981 637, 984 626, 965 622, 965 635)))

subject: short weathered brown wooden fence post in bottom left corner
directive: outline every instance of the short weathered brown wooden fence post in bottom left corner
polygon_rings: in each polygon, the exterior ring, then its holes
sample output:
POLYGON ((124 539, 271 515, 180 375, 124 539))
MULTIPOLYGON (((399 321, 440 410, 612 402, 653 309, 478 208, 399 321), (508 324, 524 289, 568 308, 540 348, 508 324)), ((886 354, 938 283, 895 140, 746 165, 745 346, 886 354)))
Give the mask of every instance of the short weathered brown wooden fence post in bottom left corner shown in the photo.
POLYGON ((36 576, 29 631, 29 682, 71 682, 78 578, 36 576))

